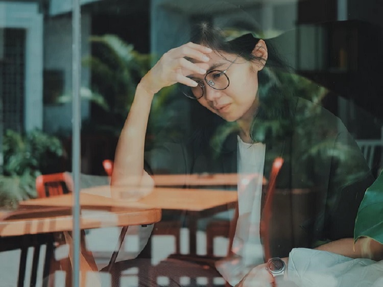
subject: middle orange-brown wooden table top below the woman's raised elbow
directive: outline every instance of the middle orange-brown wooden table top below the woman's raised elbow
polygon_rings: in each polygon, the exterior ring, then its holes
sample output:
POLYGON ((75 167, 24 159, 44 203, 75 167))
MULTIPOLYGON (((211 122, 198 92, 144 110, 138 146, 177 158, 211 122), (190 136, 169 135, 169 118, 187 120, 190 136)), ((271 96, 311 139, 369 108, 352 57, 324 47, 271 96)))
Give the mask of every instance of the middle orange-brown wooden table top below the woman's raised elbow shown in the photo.
MULTIPOLYGON (((138 189, 118 188, 113 190, 109 185, 100 185, 81 189, 80 204, 82 207, 114 206, 147 209, 172 209, 202 211, 217 206, 235 204, 237 201, 236 190, 198 189, 198 188, 170 188, 155 187, 148 194, 145 191, 141 197, 137 196, 138 189), (124 192, 124 190, 126 192, 124 192), (135 201, 132 201, 132 197, 135 201)), ((71 207, 70 195, 60 196, 60 200, 51 198, 38 198, 20 203, 22 206, 56 206, 71 207)))

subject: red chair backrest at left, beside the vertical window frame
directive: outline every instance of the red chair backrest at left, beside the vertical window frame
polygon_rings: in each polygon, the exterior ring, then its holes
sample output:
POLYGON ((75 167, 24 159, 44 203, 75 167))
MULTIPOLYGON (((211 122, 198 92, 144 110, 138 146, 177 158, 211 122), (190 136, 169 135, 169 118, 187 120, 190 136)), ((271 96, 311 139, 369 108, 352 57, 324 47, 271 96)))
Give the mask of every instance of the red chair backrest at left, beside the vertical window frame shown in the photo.
POLYGON ((36 178, 36 190, 39 198, 71 193, 73 181, 67 173, 40 175, 36 178))

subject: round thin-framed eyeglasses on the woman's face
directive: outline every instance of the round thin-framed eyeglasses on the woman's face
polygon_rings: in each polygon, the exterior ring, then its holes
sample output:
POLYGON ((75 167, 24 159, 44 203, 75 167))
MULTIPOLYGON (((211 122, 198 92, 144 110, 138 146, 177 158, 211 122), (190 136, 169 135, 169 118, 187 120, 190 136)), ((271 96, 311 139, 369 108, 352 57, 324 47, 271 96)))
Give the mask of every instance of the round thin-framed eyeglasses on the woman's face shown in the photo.
POLYGON ((237 56, 234 61, 225 69, 225 70, 211 70, 207 73, 203 80, 194 80, 197 82, 197 86, 189 87, 186 85, 181 85, 181 91, 187 98, 198 100, 201 99, 204 95, 205 82, 206 84, 213 88, 214 90, 224 90, 230 85, 229 77, 226 75, 227 70, 238 58, 237 56))

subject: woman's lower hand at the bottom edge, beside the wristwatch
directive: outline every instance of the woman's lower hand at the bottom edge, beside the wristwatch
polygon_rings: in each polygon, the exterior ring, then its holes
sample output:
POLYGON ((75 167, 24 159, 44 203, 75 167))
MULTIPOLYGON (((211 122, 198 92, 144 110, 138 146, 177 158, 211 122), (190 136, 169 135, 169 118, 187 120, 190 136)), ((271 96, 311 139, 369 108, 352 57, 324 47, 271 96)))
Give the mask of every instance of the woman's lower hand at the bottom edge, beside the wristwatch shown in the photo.
MULTIPOLYGON (((287 265, 289 258, 282 258, 284 264, 287 265)), ((277 287, 276 278, 266 269, 267 264, 260 264, 249 271, 248 274, 235 287, 277 287)), ((280 277, 283 277, 280 275, 280 277)))

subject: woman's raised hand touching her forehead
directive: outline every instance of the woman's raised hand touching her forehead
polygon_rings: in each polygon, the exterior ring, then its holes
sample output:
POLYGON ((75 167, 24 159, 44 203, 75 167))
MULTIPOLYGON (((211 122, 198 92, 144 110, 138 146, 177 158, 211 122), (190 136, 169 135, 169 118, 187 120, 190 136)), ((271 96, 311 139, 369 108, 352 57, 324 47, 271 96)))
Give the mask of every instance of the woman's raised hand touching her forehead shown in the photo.
POLYGON ((188 75, 205 75, 209 61, 207 56, 212 50, 208 47, 192 42, 174 48, 159 59, 154 67, 141 79, 140 87, 149 93, 156 93, 161 88, 175 83, 185 84, 191 87, 197 86, 197 82, 187 78, 188 75), (185 57, 198 63, 188 61, 185 57))

